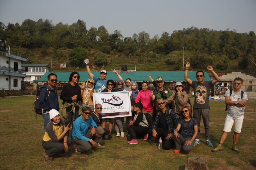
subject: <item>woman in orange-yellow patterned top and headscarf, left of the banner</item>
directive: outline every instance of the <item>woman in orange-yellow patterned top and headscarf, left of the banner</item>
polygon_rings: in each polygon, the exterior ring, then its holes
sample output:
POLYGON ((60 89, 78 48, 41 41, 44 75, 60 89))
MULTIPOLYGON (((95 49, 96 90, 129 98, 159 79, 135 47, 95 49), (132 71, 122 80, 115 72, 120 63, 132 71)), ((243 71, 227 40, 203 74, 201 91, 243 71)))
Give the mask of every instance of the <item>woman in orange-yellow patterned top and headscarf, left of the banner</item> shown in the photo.
POLYGON ((94 80, 89 79, 86 83, 83 82, 81 86, 81 96, 82 96, 82 107, 88 106, 93 110, 93 98, 92 94, 96 92, 94 90, 94 80))

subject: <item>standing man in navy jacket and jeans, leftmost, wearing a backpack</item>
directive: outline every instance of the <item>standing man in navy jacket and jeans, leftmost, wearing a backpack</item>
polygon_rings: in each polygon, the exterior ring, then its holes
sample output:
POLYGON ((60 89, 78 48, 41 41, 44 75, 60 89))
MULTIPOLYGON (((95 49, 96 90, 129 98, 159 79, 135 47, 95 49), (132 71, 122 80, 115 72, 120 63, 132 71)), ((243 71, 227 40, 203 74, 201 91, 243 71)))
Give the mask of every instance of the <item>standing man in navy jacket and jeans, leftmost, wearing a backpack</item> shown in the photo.
POLYGON ((43 108, 42 117, 44 119, 44 130, 46 128, 46 125, 50 122, 49 111, 52 109, 55 109, 57 111, 60 110, 58 94, 55 87, 57 82, 57 75, 54 73, 50 73, 47 76, 47 84, 44 84, 40 91, 39 103, 40 106, 43 108))

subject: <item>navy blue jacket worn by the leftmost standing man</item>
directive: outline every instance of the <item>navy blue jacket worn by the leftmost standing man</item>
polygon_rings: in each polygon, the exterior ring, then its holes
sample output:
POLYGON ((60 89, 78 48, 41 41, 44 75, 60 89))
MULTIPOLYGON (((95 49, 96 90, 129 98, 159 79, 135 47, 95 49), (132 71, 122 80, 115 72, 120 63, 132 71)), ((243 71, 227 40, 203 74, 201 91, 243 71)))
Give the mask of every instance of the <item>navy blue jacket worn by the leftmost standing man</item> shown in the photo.
POLYGON ((59 107, 59 100, 58 100, 58 93, 56 91, 56 87, 51 89, 48 84, 44 84, 40 91, 39 95, 39 104, 45 111, 50 111, 51 109, 60 110, 59 107), (47 89, 49 90, 49 96, 47 97, 47 89))

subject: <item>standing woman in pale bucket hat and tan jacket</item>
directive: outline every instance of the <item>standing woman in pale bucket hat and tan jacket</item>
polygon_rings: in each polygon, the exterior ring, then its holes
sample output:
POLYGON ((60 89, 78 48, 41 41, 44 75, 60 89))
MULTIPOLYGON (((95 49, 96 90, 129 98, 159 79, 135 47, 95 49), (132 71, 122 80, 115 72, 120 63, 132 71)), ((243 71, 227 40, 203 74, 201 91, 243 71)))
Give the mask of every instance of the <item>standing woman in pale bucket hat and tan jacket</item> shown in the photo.
POLYGON ((176 92, 164 100, 165 103, 171 103, 172 101, 175 101, 176 111, 178 113, 180 113, 183 106, 188 106, 190 110, 192 109, 192 106, 188 102, 188 94, 184 91, 184 88, 185 86, 181 82, 177 82, 174 86, 176 92))

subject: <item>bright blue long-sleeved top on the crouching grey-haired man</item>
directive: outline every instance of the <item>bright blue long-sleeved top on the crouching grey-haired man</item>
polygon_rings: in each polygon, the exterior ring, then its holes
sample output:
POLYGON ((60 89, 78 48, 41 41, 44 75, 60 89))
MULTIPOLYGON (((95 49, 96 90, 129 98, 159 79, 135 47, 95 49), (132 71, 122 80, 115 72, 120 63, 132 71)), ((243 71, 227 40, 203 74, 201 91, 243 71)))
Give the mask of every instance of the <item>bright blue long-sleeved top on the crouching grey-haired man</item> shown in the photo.
POLYGON ((90 139, 85 137, 84 135, 87 133, 89 125, 91 125, 92 127, 97 127, 97 124, 94 122, 92 117, 89 117, 89 119, 86 121, 84 121, 82 117, 83 115, 79 116, 74 122, 74 126, 72 129, 72 138, 77 138, 88 142, 90 139))

